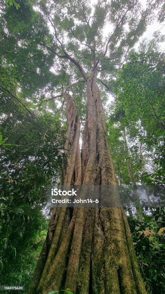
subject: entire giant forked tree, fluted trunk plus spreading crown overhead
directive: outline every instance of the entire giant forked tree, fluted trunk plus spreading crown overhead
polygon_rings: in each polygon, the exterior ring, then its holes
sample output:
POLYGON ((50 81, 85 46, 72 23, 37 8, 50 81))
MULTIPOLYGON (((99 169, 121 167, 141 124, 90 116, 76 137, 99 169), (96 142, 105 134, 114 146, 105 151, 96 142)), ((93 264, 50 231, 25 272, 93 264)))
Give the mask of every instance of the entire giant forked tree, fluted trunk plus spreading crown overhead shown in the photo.
MULTIPOLYGON (((47 56, 54 55, 56 75, 62 77, 56 85, 57 95, 46 100, 67 100, 67 159, 62 184, 117 184, 97 82, 100 88, 107 89, 113 84, 116 69, 145 30, 153 9, 150 4, 144 11, 137 0, 99 0, 92 13, 87 1, 36 3, 35 10, 43 15, 53 33, 38 38, 32 25, 28 27, 32 34, 28 35, 37 43, 36 54, 42 49, 47 56), (112 32, 103 38, 107 23, 112 32), (82 98, 86 87, 87 107, 81 157, 80 121, 74 99, 68 93, 70 89, 77 91, 79 83, 84 87, 79 93, 82 98)), ((23 42, 22 47, 26 46, 23 42)), ((28 58, 32 57, 30 54, 28 58)), ((83 294, 146 293, 123 209, 53 209, 29 293, 46 294, 61 287, 83 294)))

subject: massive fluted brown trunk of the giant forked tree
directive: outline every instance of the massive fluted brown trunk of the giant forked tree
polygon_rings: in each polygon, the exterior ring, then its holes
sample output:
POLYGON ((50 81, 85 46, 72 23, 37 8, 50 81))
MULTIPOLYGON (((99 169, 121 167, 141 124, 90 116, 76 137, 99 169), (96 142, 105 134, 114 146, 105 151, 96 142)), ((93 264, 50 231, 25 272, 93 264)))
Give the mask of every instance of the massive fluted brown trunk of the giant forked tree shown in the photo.
MULTIPOLYGON (((67 98, 68 157, 62 184, 117 185, 96 74, 87 79, 87 115, 67 98)), ((118 197, 118 195, 116 196, 118 197)), ((54 208, 28 294, 70 288, 74 294, 146 294, 122 208, 54 208)))

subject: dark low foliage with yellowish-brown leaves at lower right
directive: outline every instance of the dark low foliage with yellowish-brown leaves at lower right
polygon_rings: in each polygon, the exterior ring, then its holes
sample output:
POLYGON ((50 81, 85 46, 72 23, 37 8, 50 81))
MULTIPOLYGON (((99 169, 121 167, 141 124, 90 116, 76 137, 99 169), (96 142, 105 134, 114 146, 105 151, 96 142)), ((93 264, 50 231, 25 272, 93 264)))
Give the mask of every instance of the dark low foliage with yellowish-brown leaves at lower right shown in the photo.
POLYGON ((162 229, 157 231, 153 216, 149 211, 145 212, 144 223, 138 227, 135 226, 136 220, 131 216, 128 217, 128 221, 147 293, 162 293, 165 277, 165 240, 164 234, 162 233, 160 237, 159 233, 162 229))

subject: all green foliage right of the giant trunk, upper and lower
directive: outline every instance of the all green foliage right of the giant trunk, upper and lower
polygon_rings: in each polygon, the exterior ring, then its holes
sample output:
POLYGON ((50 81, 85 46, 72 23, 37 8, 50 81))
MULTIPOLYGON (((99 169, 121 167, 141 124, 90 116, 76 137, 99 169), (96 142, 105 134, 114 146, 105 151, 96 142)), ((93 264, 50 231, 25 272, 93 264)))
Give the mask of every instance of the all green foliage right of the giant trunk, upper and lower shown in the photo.
MULTIPOLYGON (((164 54, 130 54, 118 72, 115 101, 107 119, 108 143, 119 183, 130 183, 122 130, 137 183, 164 184, 164 54), (115 153, 115 150, 117 151, 115 153), (138 176, 137 176, 138 175, 138 176)), ((163 293, 165 279, 164 208, 144 208, 143 221, 128 209, 128 221, 147 293, 163 293)))

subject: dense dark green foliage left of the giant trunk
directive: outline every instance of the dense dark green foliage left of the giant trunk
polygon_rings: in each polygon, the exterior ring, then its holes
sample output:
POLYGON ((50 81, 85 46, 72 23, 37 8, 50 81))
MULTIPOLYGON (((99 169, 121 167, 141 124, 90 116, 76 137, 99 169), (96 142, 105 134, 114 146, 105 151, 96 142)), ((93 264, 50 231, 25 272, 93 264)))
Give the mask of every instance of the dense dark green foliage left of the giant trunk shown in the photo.
POLYGON ((49 30, 44 31, 33 3, 24 1, 21 8, 5 4, 0 32, 0 272, 1 284, 28 285, 47 232, 45 186, 60 181, 65 123, 42 108, 44 95, 39 96, 53 76, 52 59, 43 61, 29 28, 36 38, 40 26, 47 37, 49 30))

